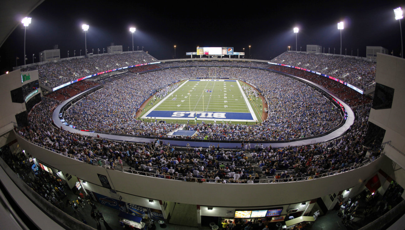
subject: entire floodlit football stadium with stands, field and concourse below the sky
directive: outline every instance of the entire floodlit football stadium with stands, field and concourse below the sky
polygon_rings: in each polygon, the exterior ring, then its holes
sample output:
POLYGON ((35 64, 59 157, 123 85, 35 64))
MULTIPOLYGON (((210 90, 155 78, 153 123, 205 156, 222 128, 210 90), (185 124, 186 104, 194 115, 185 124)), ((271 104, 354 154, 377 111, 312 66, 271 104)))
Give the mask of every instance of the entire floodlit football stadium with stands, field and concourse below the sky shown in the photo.
POLYGON ((9 226, 398 229, 404 59, 296 48, 53 49, 0 76, 9 226))

